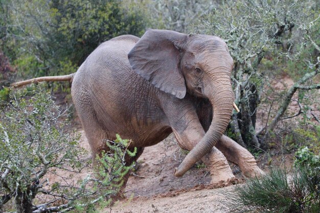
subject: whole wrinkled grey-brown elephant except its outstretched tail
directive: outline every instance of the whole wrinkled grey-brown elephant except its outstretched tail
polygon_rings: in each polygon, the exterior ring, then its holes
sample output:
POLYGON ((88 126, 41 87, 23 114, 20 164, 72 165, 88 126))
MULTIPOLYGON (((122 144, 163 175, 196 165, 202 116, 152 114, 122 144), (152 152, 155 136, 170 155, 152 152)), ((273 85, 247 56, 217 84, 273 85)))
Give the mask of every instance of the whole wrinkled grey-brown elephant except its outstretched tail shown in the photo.
POLYGON ((139 148, 130 163, 174 132, 179 146, 191 150, 175 176, 202 159, 212 182, 227 181, 234 176, 226 158, 245 175, 260 174, 254 157, 222 135, 233 110, 232 69, 225 42, 215 36, 148 30, 141 39, 124 35, 102 43, 72 83, 93 157, 108 150, 104 138, 119 133, 139 148))

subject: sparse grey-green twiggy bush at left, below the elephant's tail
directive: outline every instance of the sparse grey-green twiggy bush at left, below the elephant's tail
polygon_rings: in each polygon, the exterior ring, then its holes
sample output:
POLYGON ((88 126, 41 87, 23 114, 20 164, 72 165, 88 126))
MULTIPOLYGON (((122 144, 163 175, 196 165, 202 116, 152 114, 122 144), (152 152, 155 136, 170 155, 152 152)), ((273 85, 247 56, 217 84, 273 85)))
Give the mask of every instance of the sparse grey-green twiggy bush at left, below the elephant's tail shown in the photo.
POLYGON ((1 113, 1 207, 14 199, 17 210, 22 205, 31 209, 29 200, 43 190, 42 178, 51 168, 67 169, 64 164, 81 167, 78 137, 60 121, 65 110, 55 106, 41 88, 33 89, 33 97, 27 90, 12 93, 10 104, 1 113))

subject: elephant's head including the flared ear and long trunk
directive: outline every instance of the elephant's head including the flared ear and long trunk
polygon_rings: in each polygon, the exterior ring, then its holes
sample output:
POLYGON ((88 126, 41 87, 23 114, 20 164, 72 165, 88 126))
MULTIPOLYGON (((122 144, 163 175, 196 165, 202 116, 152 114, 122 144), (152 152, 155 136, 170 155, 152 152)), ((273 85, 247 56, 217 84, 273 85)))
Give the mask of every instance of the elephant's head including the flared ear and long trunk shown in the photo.
POLYGON ((233 109, 233 59, 225 42, 208 35, 148 30, 128 54, 133 70, 159 89, 183 99, 206 97, 213 106, 211 126, 175 171, 182 176, 224 133, 233 109))

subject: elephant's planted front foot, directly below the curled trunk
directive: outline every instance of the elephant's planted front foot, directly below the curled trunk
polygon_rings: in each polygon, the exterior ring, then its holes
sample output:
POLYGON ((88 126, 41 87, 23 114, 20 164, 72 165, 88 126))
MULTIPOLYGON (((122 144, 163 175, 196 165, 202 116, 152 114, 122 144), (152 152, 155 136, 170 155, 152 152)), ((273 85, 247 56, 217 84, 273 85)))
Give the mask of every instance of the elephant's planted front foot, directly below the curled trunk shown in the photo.
POLYGON ((211 184, 229 184, 235 178, 228 161, 217 148, 213 147, 211 152, 203 157, 203 162, 210 172, 211 184))

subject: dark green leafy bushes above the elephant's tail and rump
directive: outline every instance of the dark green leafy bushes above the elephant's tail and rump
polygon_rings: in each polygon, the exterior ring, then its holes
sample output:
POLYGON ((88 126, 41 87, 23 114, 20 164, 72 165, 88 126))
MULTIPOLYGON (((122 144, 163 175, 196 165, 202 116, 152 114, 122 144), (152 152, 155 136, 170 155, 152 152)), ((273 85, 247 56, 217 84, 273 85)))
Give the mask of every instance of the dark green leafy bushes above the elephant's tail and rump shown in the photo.
POLYGON ((148 20, 138 5, 118 0, 0 1, 0 44, 20 78, 74 73, 97 46, 141 35, 148 20))

